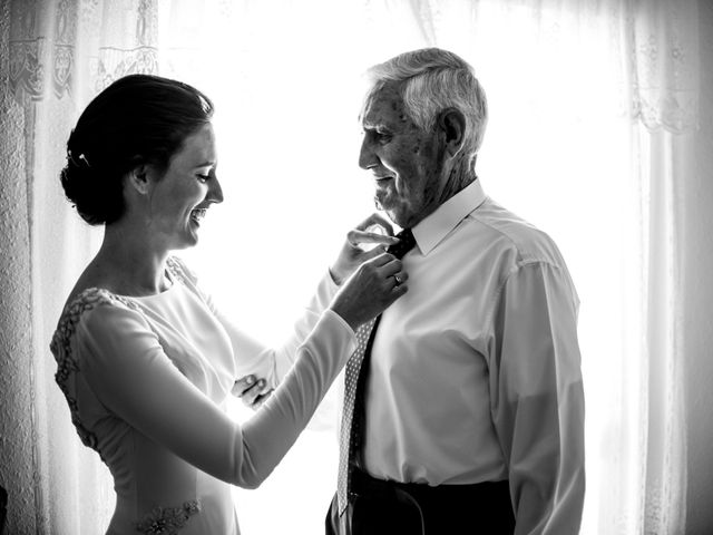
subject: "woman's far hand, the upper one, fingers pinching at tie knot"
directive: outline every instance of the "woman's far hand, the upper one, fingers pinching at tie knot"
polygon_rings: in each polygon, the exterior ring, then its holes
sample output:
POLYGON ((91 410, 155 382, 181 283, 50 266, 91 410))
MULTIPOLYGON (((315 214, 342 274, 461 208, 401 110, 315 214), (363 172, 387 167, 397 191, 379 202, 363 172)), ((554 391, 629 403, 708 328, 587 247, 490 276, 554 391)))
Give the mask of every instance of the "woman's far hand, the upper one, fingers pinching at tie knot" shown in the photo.
POLYGON ((341 285, 356 268, 382 254, 387 245, 399 243, 393 237, 391 224, 379 214, 371 214, 355 228, 349 231, 336 261, 330 268, 332 279, 341 285), (381 232, 379 232, 381 231, 381 232), (375 244, 375 247, 362 247, 361 244, 375 244))

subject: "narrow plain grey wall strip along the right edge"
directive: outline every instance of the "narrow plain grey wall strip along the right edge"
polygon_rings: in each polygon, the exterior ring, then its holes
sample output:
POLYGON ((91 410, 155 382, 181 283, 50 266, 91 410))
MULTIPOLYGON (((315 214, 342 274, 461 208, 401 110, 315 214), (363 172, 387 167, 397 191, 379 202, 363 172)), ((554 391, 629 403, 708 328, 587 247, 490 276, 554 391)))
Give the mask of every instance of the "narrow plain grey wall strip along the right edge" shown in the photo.
POLYGON ((683 216, 682 358, 686 372, 686 534, 713 534, 713 2, 699 2, 701 129, 696 173, 680 189, 683 216))

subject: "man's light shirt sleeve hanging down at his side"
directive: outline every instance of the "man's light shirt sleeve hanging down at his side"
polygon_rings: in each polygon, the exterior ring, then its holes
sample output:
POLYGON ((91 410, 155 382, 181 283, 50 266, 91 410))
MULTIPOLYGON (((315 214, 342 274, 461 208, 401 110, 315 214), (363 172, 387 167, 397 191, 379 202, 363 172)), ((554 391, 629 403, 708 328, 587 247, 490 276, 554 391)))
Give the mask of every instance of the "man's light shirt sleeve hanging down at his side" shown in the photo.
POLYGON ((516 535, 578 533, 585 492, 578 302, 566 270, 516 269, 500 293, 491 410, 516 535))

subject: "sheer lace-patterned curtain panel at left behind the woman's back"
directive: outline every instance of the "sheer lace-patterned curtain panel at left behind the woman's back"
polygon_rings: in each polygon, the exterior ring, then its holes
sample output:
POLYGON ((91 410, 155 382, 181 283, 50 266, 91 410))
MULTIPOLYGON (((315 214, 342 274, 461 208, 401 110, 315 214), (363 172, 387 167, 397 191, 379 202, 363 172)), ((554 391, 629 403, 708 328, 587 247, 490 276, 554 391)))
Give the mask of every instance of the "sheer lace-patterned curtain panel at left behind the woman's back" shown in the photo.
MULTIPOLYGON (((8 135, 19 138, 22 154, 19 169, 11 171, 26 181, 30 206, 35 525, 37 533, 104 533, 114 509, 111 480, 71 427, 49 353, 64 301, 101 231, 71 212, 58 176, 70 128, 97 90, 124 74, 156 70, 157 7, 130 0, 17 0, 3 2, 3 11, 10 23, 2 94, 18 115, 8 135)), ((19 505, 10 508, 10 518, 19 514, 18 522, 28 523, 29 512, 19 505)), ((29 533, 29 526, 10 524, 9 531, 29 533)))

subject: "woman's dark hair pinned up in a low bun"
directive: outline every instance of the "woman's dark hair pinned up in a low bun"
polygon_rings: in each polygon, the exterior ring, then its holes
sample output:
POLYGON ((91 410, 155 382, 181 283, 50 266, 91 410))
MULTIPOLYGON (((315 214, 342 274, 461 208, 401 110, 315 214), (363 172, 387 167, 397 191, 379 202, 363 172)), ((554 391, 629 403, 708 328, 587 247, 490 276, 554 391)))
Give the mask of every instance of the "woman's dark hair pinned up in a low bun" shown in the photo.
POLYGON ((150 75, 119 78, 95 97, 67 140, 61 183, 91 225, 124 214, 123 178, 143 163, 159 169, 211 120, 213 103, 180 81, 150 75))

